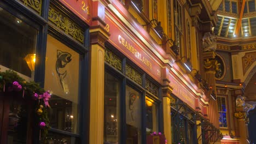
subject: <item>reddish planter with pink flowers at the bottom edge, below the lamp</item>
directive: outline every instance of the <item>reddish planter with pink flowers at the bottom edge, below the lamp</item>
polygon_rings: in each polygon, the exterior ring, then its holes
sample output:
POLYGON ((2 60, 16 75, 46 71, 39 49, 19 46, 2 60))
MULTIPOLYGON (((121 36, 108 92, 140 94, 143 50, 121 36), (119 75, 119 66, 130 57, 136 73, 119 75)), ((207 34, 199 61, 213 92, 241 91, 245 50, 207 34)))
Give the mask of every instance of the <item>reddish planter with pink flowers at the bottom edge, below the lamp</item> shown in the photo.
POLYGON ((167 140, 164 134, 153 132, 147 135, 147 144, 167 144, 167 140))

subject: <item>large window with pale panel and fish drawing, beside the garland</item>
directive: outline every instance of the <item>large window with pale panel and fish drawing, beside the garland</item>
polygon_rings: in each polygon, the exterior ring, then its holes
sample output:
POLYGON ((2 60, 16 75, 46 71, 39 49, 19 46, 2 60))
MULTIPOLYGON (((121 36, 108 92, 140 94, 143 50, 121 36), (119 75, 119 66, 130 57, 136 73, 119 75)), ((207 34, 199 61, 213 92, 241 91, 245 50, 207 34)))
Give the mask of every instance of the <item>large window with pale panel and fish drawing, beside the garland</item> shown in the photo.
MULTIPOLYGON (((55 131, 78 134, 79 53, 48 35, 44 89, 51 93, 50 127, 55 131)), ((48 139, 60 137, 52 131, 48 139)), ((67 136, 68 137, 68 136, 67 136)), ((69 136, 71 137, 71 136, 69 136)), ((74 139, 74 138, 73 138, 74 139)), ((73 143, 71 138, 65 139, 73 143)))

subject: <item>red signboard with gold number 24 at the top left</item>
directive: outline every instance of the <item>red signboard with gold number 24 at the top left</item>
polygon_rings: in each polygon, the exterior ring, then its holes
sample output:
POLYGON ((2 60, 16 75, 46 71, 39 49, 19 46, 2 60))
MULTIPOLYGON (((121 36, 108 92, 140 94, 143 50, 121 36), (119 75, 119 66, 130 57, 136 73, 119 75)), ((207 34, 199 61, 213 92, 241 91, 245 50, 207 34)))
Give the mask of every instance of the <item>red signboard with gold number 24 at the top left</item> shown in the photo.
POLYGON ((75 15, 88 24, 91 21, 91 0, 59 0, 75 15))

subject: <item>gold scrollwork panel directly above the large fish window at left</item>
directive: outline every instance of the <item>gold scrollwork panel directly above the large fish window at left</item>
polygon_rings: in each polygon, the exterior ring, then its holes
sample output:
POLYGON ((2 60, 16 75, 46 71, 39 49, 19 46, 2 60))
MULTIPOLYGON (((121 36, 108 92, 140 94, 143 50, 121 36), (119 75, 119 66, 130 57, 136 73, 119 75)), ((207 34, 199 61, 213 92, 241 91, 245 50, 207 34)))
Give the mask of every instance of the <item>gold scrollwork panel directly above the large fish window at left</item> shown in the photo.
POLYGON ((73 39, 79 41, 79 43, 84 43, 84 32, 82 28, 75 24, 74 21, 68 19, 67 16, 61 13, 61 11, 55 9, 52 5, 49 7, 49 20, 54 23, 54 25, 60 28, 63 32, 70 35, 73 39))

